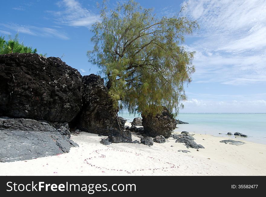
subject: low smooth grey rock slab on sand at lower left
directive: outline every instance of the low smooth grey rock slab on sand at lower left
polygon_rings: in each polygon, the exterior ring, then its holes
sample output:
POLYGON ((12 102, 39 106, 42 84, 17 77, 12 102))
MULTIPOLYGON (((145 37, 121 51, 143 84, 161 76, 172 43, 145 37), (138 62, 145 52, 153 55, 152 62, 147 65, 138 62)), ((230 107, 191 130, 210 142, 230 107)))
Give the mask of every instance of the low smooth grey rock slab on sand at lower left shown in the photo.
POLYGON ((69 135, 62 135, 46 122, 0 118, 0 162, 58 155, 73 146, 78 145, 69 135))

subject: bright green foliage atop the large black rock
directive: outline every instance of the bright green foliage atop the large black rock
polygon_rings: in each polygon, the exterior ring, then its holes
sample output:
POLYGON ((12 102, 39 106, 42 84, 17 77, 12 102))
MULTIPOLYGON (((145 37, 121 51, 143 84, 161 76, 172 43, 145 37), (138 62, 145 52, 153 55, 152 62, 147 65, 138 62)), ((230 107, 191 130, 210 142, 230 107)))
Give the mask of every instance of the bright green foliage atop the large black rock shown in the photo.
MULTIPOLYGON (((7 53, 37 53, 37 49, 24 46, 23 42, 19 43, 18 33, 16 33, 15 38, 12 39, 11 36, 9 36, 8 41, 5 40, 5 36, 0 37, 0 54, 7 53)), ((46 54, 44 54, 44 56, 46 56, 46 54)))

